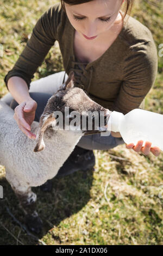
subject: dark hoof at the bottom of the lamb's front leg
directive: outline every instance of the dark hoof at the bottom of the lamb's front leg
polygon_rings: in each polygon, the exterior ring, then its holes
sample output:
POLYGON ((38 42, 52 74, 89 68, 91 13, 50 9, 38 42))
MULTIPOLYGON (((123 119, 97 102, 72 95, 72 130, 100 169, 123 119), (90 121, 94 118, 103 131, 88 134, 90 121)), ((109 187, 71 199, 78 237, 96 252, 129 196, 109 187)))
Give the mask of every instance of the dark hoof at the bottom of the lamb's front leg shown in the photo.
POLYGON ((43 222, 38 215, 33 216, 33 215, 27 214, 25 216, 25 223, 26 223, 28 229, 36 234, 41 233, 41 231, 43 229, 43 222))

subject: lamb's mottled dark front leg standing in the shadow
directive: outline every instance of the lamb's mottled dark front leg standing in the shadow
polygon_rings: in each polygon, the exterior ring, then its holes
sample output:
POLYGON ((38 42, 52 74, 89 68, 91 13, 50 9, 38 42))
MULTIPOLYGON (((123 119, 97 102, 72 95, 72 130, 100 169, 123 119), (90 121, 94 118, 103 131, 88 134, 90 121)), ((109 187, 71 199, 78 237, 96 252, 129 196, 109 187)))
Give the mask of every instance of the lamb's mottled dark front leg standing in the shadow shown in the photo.
POLYGON ((29 230, 39 234, 42 230, 42 221, 38 216, 36 205, 36 194, 31 190, 31 187, 14 187, 12 186, 16 197, 18 198, 20 205, 24 211, 24 221, 29 230))

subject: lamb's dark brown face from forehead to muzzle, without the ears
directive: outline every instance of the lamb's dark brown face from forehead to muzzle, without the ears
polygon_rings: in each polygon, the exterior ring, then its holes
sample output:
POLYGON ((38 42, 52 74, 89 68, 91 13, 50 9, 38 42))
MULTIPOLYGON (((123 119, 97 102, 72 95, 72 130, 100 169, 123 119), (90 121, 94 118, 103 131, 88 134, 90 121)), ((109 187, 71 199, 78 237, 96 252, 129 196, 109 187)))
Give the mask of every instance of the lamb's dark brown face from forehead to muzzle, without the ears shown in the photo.
POLYGON ((106 131, 106 117, 110 112, 91 100, 82 89, 70 88, 61 101, 67 107, 65 109, 69 110, 69 113, 64 112, 64 119, 67 120, 66 124, 64 122, 64 127, 68 124, 70 130, 82 130, 85 135, 106 131))

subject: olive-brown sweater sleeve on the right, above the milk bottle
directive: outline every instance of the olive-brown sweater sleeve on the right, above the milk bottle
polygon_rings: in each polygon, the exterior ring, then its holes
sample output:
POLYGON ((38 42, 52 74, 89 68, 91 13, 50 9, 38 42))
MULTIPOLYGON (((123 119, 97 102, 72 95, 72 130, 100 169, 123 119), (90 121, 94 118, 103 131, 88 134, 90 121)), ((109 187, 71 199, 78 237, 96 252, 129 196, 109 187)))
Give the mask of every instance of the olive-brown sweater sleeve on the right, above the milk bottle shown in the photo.
POLYGON ((127 114, 134 108, 141 108, 157 71, 158 54, 154 41, 144 42, 130 50, 124 59, 123 81, 112 110, 127 114))

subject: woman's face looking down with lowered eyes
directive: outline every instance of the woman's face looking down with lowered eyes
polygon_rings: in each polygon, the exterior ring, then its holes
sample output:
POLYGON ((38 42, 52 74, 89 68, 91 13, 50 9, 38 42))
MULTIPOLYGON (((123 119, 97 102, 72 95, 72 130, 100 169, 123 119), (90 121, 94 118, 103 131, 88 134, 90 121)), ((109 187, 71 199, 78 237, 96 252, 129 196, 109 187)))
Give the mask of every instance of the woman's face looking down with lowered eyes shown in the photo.
POLYGON ((119 11, 123 2, 124 0, 94 0, 77 5, 65 3, 65 9, 71 25, 83 38, 83 34, 89 38, 97 35, 98 38, 120 19, 119 11))

